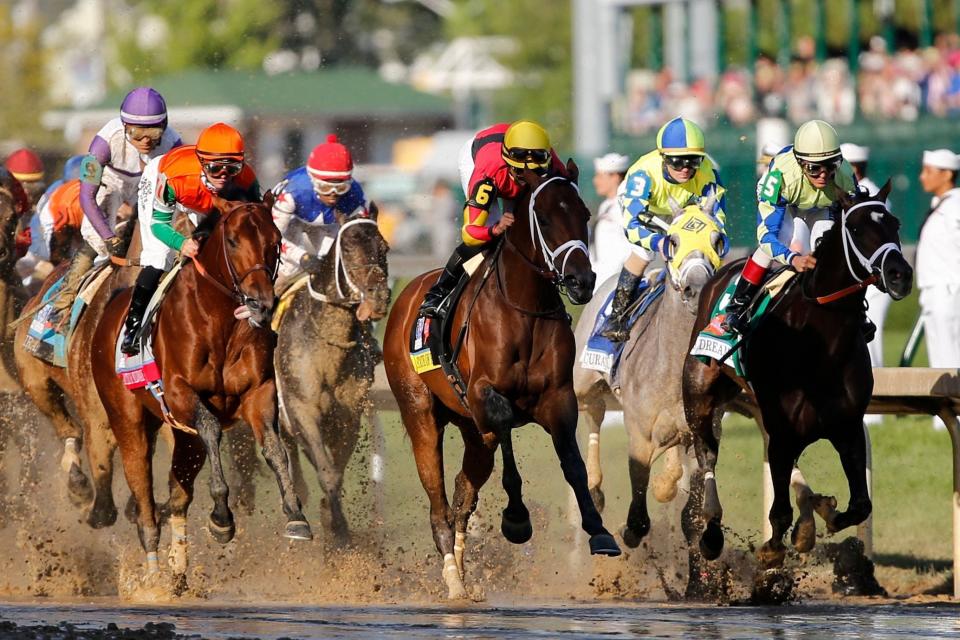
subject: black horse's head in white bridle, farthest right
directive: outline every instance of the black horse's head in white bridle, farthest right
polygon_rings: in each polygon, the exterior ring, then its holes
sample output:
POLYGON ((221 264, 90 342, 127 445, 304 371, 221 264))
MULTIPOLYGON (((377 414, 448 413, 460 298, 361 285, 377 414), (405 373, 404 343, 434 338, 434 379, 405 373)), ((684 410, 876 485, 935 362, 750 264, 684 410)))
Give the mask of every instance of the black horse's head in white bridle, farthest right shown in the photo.
MULTIPOLYGON (((901 300, 913 288, 913 267, 900 249, 900 221, 887 210, 890 181, 876 196, 841 194, 841 241, 850 275, 858 282, 877 277, 877 287, 901 300)), ((835 227, 836 228, 836 227, 835 227)))

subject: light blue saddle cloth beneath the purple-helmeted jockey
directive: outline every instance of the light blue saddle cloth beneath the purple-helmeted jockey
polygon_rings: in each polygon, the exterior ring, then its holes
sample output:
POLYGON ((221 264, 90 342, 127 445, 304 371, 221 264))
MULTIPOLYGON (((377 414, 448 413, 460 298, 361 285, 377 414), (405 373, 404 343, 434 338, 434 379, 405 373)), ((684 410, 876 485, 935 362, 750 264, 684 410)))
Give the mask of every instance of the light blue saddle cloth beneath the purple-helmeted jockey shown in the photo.
POLYGON ((113 266, 109 262, 104 262, 95 266, 84 276, 77 298, 70 307, 70 320, 66 330, 62 330, 61 318, 54 311, 53 302, 63 286, 63 279, 66 277, 64 273, 40 299, 40 308, 33 314, 30 326, 27 328, 27 335, 23 340, 24 349, 44 362, 56 367, 66 367, 67 346, 73 330, 80 321, 83 311, 111 273, 113 273, 113 266))

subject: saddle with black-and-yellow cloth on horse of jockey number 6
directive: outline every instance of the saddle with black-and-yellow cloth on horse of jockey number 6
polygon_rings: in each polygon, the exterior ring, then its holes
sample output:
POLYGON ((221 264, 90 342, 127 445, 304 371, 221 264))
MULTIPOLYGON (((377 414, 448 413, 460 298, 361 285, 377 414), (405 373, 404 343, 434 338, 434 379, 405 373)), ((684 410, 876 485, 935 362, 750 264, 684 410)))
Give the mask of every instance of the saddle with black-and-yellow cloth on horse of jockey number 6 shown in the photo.
MULTIPOLYGON (((463 263, 463 275, 460 276, 460 281, 438 306, 439 317, 436 319, 417 317, 410 334, 410 361, 413 363, 414 371, 423 374, 434 369, 443 369, 447 381, 464 406, 466 406, 467 383, 457 366, 457 358, 460 356, 460 349, 467 336, 467 323, 460 327, 454 343, 451 339, 453 317, 456 315, 455 311, 463 290, 485 258, 483 253, 478 253, 463 263)), ((491 270, 488 269, 482 277, 486 278, 490 273, 491 270)))

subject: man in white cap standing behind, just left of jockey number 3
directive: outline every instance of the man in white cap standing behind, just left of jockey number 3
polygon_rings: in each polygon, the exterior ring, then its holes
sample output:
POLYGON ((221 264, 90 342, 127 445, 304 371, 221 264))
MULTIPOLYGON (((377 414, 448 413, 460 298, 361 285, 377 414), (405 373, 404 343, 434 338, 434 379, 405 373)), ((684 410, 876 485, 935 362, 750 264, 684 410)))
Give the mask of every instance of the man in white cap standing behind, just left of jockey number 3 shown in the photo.
POLYGON ((608 153, 593 161, 593 188, 603 198, 597 209, 597 225, 590 243, 590 261, 597 274, 596 289, 607 278, 620 273, 630 255, 630 242, 623 233, 623 214, 617 202, 617 187, 623 182, 630 158, 608 153))

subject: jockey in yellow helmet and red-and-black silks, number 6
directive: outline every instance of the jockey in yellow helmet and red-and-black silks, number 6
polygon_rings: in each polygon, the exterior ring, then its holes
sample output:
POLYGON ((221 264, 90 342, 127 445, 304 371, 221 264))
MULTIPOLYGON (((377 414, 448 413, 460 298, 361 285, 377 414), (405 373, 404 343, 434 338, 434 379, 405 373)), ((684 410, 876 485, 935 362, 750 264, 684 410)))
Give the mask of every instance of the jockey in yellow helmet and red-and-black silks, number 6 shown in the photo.
POLYGON ((530 120, 496 124, 477 133, 461 148, 459 169, 467 194, 460 231, 463 243, 454 250, 437 283, 424 296, 420 305, 422 316, 437 316, 440 303, 460 281, 463 263, 513 224, 513 203, 526 188, 523 170, 543 175, 566 172, 550 146, 550 136, 530 120), (488 218, 500 215, 497 198, 504 201, 503 216, 488 226, 488 218))

